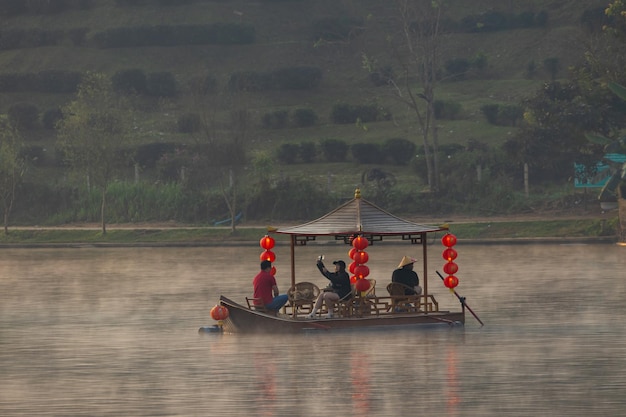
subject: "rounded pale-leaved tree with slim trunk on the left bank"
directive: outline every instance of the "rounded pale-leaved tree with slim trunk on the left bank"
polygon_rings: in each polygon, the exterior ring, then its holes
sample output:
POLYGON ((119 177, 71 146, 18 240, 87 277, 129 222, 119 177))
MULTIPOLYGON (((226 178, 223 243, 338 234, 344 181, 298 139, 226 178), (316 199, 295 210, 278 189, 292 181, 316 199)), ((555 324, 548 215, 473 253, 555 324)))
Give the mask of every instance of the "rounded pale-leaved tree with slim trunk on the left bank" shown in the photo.
POLYGON ((88 73, 62 113, 57 126, 59 148, 70 168, 100 189, 100 218, 106 234, 107 187, 131 159, 132 109, 104 74, 88 73))

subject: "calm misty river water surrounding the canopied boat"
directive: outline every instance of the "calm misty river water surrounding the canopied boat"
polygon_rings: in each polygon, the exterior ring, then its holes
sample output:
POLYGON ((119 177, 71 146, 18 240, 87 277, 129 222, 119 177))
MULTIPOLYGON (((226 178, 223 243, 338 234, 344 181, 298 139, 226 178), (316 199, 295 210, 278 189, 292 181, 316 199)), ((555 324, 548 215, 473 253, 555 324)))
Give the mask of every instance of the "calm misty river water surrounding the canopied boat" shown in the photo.
MULTIPOLYGON (((348 249, 298 248, 298 280, 325 285, 315 258, 348 249)), ((198 333, 220 294, 250 294, 259 247, 2 249, 0 415, 624 415, 626 248, 456 249, 484 327, 468 313, 464 328, 280 337, 198 333)), ((275 252, 284 292, 289 249, 275 252)), ((384 292, 419 249, 368 253, 384 292)), ((429 288, 458 307, 436 275, 429 288)))

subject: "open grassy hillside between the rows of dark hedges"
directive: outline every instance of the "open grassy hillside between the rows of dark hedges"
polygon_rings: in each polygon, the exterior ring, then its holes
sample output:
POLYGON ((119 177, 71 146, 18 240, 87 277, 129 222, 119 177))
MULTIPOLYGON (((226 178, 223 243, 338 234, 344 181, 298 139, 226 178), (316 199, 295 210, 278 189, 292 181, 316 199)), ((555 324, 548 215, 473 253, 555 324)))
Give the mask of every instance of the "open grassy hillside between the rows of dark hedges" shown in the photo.
MULTIPOLYGON (((89 2, 85 3, 88 4, 89 2)), ((272 71, 282 67, 312 66, 323 71, 318 88, 310 91, 266 91, 241 94, 238 106, 245 106, 255 116, 253 147, 275 149, 293 141, 319 141, 339 138, 348 143, 380 142, 392 137, 405 137, 420 143, 418 128, 410 112, 384 88, 376 88, 368 80, 361 65, 361 55, 385 56, 385 33, 363 32, 350 40, 316 43, 316 22, 323 19, 350 18, 366 22, 368 16, 392 16, 388 0, 315 0, 315 1, 194 1, 180 6, 149 5, 121 7, 115 0, 95 0, 92 7, 72 9, 54 14, 25 14, 2 17, 2 33, 15 30, 58 30, 83 33, 77 45, 69 40, 54 46, 0 50, 0 74, 37 73, 44 70, 98 71, 113 75, 117 71, 139 68, 146 72, 170 72, 176 77, 178 95, 171 98, 142 98, 136 130, 146 143, 190 142, 193 135, 177 131, 176 121, 184 113, 206 105, 194 96, 193 80, 210 75, 217 81, 219 95, 226 90, 233 72, 272 71), (190 25, 236 23, 254 27, 256 41, 250 45, 183 45, 170 47, 99 48, 94 43, 98 32, 117 27, 154 25, 190 25), (366 126, 332 124, 329 114, 338 102, 377 103, 393 114, 393 119, 367 123, 366 126), (279 110, 306 107, 319 116, 318 123, 308 128, 263 129, 264 114, 279 110)), ((446 35, 443 61, 470 58, 482 53, 487 68, 478 76, 437 87, 440 100, 462 105, 457 120, 440 120, 440 143, 465 144, 477 139, 497 146, 513 134, 514 127, 498 127, 487 123, 480 108, 490 103, 518 103, 549 78, 542 69, 547 58, 558 58, 566 76, 567 67, 580 62, 586 34, 580 25, 585 10, 603 6, 606 0, 569 1, 449 1, 449 17, 486 11, 521 13, 546 12, 547 25, 541 28, 515 29, 490 33, 455 33, 446 35), (537 72, 528 78, 530 62, 537 72)), ((1 38, 0 38, 1 40, 1 38)), ((392 64, 392 61, 389 61, 392 64)), ((35 104, 40 112, 61 106, 71 94, 4 92, 0 94, 0 113, 19 102, 35 104)), ((235 105, 231 105, 234 107, 235 105)), ((221 116, 232 107, 219 108, 221 116)), ((218 113, 219 113, 218 112, 218 113)), ((53 147, 53 131, 36 129, 24 136, 33 144, 53 147)), ((298 166, 284 167, 286 172, 302 171, 298 166)), ((408 168, 391 167, 402 181, 413 181, 408 168)), ((316 163, 307 166, 306 175, 317 175, 320 181, 341 183, 351 190, 358 183, 358 172, 351 164, 316 163)), ((41 178, 49 172, 32 172, 41 178)))

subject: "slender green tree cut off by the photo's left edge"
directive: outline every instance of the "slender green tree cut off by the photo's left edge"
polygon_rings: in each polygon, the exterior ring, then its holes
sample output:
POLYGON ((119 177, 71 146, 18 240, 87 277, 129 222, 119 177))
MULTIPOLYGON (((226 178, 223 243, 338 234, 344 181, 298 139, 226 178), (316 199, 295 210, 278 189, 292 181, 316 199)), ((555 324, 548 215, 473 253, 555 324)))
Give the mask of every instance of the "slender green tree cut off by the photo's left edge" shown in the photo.
POLYGON ((26 160, 22 156, 22 138, 10 123, 0 122, 0 199, 4 210, 4 233, 9 232, 9 217, 16 190, 24 175, 26 160))

